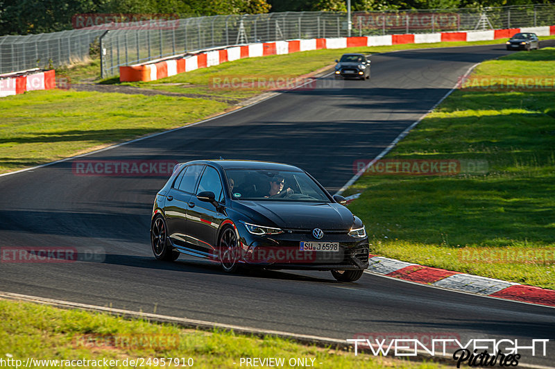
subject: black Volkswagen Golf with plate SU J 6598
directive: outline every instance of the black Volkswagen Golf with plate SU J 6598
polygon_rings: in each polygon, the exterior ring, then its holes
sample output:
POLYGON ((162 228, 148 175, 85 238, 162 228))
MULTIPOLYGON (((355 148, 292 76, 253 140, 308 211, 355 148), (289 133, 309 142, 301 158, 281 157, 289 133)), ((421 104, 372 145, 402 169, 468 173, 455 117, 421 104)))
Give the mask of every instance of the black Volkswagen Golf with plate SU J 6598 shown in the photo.
POLYGON ((151 221, 157 259, 180 253, 239 266, 331 271, 340 282, 368 268, 361 220, 296 166, 242 160, 178 164, 151 221))

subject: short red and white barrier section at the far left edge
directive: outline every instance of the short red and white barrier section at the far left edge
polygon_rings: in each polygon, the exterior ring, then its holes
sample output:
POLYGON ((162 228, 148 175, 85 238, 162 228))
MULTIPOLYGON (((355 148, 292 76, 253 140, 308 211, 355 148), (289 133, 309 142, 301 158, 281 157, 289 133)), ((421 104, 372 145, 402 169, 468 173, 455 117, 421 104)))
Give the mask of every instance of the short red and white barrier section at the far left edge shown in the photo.
POLYGON ((0 97, 54 87, 56 87, 56 73, 53 69, 49 71, 32 69, 0 76, 0 97))

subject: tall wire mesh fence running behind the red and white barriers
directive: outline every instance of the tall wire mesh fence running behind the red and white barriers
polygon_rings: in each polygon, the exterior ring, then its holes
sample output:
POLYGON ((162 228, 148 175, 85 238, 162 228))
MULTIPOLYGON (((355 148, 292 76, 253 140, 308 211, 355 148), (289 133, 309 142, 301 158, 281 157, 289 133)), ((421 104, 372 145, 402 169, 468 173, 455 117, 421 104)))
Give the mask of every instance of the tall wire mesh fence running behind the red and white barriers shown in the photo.
MULTIPOLYGON (((391 35, 555 25, 555 4, 456 10, 353 12, 350 35, 391 35)), ((119 67, 233 44, 345 37, 342 12, 217 15, 166 22, 103 24, 73 31, 0 37, 0 73, 86 60, 100 42, 102 77, 119 67)))

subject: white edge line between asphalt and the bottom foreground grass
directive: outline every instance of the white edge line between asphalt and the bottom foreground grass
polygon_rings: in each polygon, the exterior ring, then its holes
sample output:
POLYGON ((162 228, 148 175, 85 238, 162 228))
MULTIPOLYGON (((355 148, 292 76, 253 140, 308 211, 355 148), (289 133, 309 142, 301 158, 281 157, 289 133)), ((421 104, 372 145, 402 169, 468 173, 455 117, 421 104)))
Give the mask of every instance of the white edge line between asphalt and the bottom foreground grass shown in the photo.
MULTIPOLYGON (((300 343, 312 343, 312 344, 319 343, 319 344, 325 344, 325 345, 335 345, 336 347, 341 347, 346 350, 350 350, 353 348, 353 346, 350 345, 346 341, 346 339, 341 340, 337 338, 312 336, 308 334, 295 334, 290 332, 274 331, 274 330, 268 330, 268 329, 257 329, 253 327, 241 327, 239 325, 228 325, 228 324, 222 324, 222 323, 207 322, 205 320, 177 318, 174 316, 144 313, 142 311, 114 309, 111 307, 101 307, 98 305, 91 305, 91 304, 80 304, 78 302, 69 302, 65 300, 55 300, 50 298, 40 298, 37 296, 22 295, 19 293, 11 293, 11 292, 3 292, 3 291, 0 291, 0 298, 6 298, 8 300, 27 301, 27 302, 33 302, 38 304, 46 304, 53 307, 61 307, 65 309, 82 309, 82 310, 88 310, 88 311, 103 312, 103 313, 108 313, 108 314, 117 315, 117 316, 128 316, 131 318, 144 318, 150 321, 155 321, 157 323, 176 323, 183 327, 210 328, 210 329, 220 328, 225 330, 232 329, 234 331, 238 331, 246 334, 254 334, 257 336, 279 336, 282 338, 289 338, 289 339, 298 341, 300 343)), ((377 348, 378 346, 373 345, 373 347, 377 348)), ((368 349, 365 349, 364 347, 359 348, 359 351, 361 353, 368 353, 368 349)), ((410 350, 410 352, 413 352, 413 350, 410 350)), ((451 355, 437 354, 434 356, 434 355, 430 355, 425 350, 416 350, 416 352, 422 357, 418 358, 418 356, 416 357, 407 356, 407 357, 402 357, 402 359, 410 360, 410 361, 422 361, 425 359, 432 359, 433 361, 439 361, 439 362, 444 362, 448 360, 449 363, 452 363, 452 360, 454 360, 452 359, 451 355)), ((400 359, 400 358, 395 358, 395 359, 400 359)), ((518 365, 521 366, 522 368, 555 369, 555 367, 531 366, 526 363, 519 363, 518 365)))

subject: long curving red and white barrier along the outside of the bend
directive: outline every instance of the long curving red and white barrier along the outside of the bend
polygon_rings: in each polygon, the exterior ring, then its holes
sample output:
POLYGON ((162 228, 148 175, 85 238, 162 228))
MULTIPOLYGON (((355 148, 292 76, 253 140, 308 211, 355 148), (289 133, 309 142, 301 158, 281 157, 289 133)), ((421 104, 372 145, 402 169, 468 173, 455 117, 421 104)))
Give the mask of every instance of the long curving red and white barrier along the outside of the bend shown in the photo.
POLYGON ((398 44, 425 44, 450 41, 484 41, 511 37, 519 32, 533 32, 538 36, 555 35, 555 26, 511 28, 489 31, 441 32, 404 35, 382 35, 364 37, 333 37, 311 40, 264 42, 222 49, 201 51, 195 55, 180 56, 150 64, 119 67, 119 79, 123 81, 149 81, 199 68, 212 67, 223 62, 266 55, 283 55, 297 51, 319 49, 345 49, 358 46, 390 46, 398 44))

